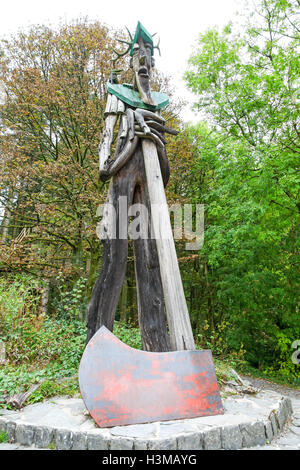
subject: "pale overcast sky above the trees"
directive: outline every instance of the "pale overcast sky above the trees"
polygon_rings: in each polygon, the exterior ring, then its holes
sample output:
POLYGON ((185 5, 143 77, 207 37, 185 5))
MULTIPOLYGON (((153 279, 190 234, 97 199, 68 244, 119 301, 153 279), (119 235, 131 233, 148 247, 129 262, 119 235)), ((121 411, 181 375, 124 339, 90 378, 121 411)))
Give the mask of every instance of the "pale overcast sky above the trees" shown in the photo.
MULTIPOLYGON (((127 26, 134 33, 141 21, 160 37, 162 56, 155 51, 156 66, 172 76, 178 96, 192 102, 182 75, 198 35, 212 26, 234 20, 244 0, 12 0, 2 2, 0 35, 13 34, 30 24, 58 24, 87 16, 117 28, 127 26)), ((187 106, 184 120, 197 121, 187 106)))

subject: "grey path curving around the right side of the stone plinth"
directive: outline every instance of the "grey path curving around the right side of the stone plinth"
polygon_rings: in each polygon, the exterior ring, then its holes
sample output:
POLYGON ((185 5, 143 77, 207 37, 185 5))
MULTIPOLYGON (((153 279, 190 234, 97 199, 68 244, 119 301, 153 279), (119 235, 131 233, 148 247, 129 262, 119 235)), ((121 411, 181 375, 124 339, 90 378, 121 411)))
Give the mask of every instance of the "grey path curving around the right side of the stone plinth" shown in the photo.
POLYGON ((263 447, 255 447, 255 450, 299 450, 300 449, 300 390, 288 388, 263 379, 243 377, 259 390, 274 390, 291 398, 293 405, 293 417, 285 432, 271 444, 263 447))

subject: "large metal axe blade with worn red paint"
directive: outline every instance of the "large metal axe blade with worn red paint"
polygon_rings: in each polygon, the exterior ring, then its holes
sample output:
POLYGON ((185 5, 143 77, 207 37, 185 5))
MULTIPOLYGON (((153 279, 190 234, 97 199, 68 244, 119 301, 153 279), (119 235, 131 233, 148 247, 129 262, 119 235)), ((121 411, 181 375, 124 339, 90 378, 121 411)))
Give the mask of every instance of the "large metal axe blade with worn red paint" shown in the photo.
POLYGON ((223 414, 211 352, 145 352, 104 326, 79 367, 84 403, 100 427, 223 414))

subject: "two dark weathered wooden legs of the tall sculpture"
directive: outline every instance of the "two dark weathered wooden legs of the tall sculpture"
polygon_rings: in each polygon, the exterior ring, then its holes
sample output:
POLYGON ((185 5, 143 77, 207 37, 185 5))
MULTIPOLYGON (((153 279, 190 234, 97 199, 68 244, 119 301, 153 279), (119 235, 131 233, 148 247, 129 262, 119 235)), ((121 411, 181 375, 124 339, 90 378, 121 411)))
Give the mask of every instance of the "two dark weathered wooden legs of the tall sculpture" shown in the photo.
MULTIPOLYGON (((140 145, 131 160, 113 179, 109 201, 114 206, 116 214, 119 214, 120 196, 127 197, 128 205, 132 202, 140 202, 149 210, 149 196, 145 186, 145 168, 140 145)), ((128 254, 128 240, 119 239, 118 216, 116 222, 117 238, 103 241, 102 269, 95 283, 87 311, 87 343, 102 325, 113 331, 115 312, 126 274, 128 254)), ((122 226, 123 234, 127 234, 127 218, 125 224, 126 227, 122 226)), ((134 253, 138 315, 143 348, 146 351, 169 351, 170 341, 155 240, 135 240, 134 253)))

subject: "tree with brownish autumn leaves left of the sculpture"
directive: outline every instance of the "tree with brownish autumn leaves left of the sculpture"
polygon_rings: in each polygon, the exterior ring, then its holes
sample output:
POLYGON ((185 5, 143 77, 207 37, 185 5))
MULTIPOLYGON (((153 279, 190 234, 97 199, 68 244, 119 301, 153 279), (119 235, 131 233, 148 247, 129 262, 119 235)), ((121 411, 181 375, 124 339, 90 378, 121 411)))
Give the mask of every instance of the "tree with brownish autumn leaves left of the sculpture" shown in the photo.
MULTIPOLYGON (((2 272, 51 279, 62 271, 71 283, 84 274, 88 290, 93 286, 102 250, 96 210, 108 186, 98 181, 98 145, 116 37, 125 35, 83 20, 57 30, 34 26, 1 41, 2 272)), ((129 82, 126 61, 120 80, 129 82)), ((153 88, 172 95, 159 72, 153 88)), ((179 107, 172 100, 165 115, 176 126, 179 107)), ((180 158, 170 146, 171 159, 180 158)))

